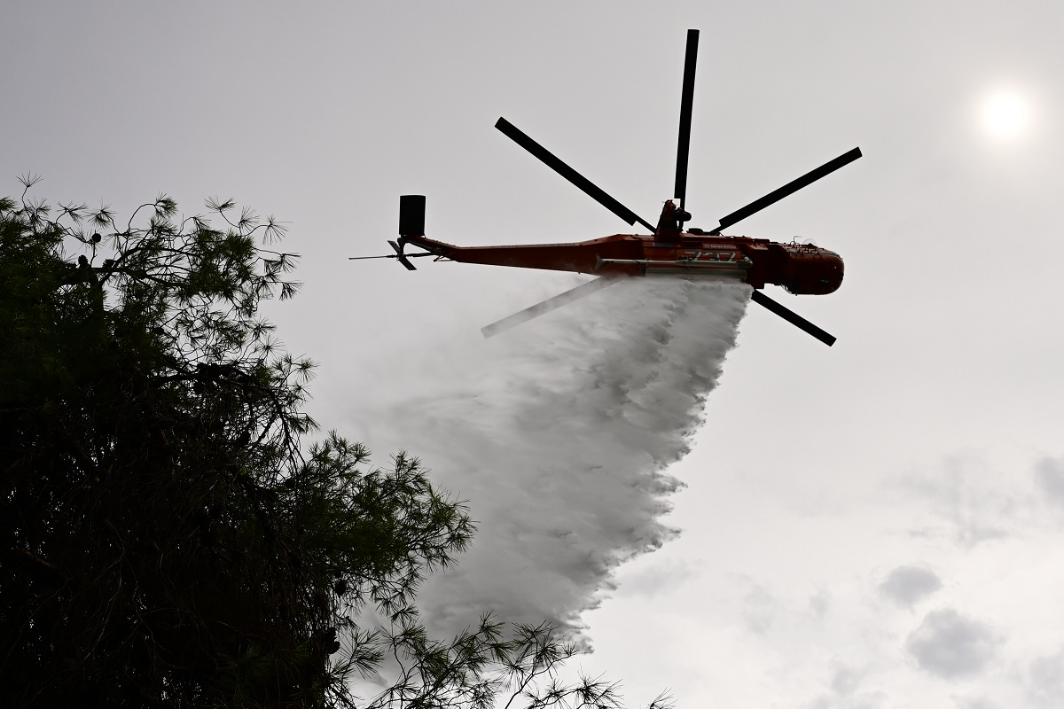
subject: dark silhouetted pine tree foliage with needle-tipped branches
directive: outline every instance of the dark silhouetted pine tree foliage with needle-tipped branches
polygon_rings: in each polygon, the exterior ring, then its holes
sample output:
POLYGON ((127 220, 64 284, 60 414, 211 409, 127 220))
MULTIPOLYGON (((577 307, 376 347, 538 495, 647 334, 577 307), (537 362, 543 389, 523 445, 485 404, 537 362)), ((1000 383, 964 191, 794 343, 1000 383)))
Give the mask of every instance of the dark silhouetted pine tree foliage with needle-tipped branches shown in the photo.
POLYGON ((259 316, 298 290, 279 222, 160 196, 120 223, 33 182, 0 200, 15 706, 618 706, 613 685, 560 683, 577 649, 550 626, 428 637, 418 581, 472 524, 416 458, 381 470, 334 433, 305 440, 314 365, 259 316))

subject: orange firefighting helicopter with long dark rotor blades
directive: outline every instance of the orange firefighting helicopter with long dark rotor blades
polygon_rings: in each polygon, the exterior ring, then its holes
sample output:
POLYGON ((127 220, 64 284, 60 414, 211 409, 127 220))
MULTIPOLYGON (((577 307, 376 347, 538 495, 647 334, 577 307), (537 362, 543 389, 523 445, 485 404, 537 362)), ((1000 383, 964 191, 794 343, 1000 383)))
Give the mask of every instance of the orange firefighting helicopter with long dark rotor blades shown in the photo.
POLYGON ((721 231, 765 207, 775 204, 820 178, 861 157, 854 148, 820 167, 807 172, 783 187, 754 200, 741 209, 722 217, 710 231, 685 227, 691 220, 686 212, 687 157, 691 147, 691 115, 695 97, 695 64, 698 56, 698 30, 687 31, 683 68, 683 94, 680 102, 680 138, 677 147, 676 185, 674 197, 665 202, 658 224, 651 224, 610 197, 601 188, 566 165, 553 153, 514 126, 505 118, 495 124, 514 142, 525 148, 548 167, 620 217, 629 225, 638 222, 649 230, 649 236, 614 234, 575 243, 537 243, 525 246, 458 247, 425 236, 425 197, 404 195, 399 198, 399 239, 388 241, 396 252, 385 256, 353 258, 395 258, 409 270, 416 270, 411 258, 433 256, 434 260, 453 260, 516 268, 537 268, 575 271, 599 276, 543 303, 526 308, 483 328, 485 337, 543 315, 582 298, 621 276, 659 275, 678 277, 733 277, 754 288, 751 300, 784 320, 828 344, 835 338, 809 320, 761 292, 766 284, 783 286, 795 294, 834 292, 843 282, 843 259, 833 251, 812 243, 781 243, 746 236, 724 236, 721 231), (408 253, 410 244, 421 249, 408 253))

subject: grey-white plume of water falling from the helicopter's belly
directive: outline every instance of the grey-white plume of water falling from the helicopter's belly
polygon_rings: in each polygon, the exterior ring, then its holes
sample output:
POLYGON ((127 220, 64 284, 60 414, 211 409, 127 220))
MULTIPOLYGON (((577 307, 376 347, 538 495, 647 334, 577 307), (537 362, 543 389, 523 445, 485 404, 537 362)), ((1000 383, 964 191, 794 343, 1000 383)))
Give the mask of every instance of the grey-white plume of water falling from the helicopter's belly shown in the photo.
POLYGON ((617 564, 677 534, 661 518, 683 484, 666 468, 688 451, 749 293, 633 278, 478 342, 443 384, 427 373, 432 393, 375 411, 367 440, 401 436, 479 523, 418 594, 431 630, 491 609, 576 631, 617 564))

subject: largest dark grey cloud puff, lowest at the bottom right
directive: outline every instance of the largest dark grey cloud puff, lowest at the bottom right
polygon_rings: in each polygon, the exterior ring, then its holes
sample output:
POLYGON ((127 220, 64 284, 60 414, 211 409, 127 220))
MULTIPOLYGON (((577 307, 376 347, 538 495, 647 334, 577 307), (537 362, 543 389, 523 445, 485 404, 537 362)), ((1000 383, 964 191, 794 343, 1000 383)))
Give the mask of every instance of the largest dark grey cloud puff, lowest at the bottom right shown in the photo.
POLYGON ((986 625, 952 609, 935 610, 910 634, 905 648, 933 675, 954 679, 980 672, 1001 639, 986 625))

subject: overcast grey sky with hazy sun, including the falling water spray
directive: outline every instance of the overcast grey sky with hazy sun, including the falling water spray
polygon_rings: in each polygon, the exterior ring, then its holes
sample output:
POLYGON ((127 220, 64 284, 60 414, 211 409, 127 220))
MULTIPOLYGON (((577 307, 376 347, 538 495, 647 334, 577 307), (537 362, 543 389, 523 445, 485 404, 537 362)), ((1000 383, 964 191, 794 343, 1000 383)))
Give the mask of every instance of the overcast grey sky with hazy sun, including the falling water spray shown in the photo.
POLYGON ((440 631, 551 617, 633 705, 1060 707, 1062 30, 1051 2, 13 0, 0 193, 288 222, 303 292, 268 315, 320 362, 310 412, 481 521, 425 589, 440 631), (485 341, 581 278, 347 260, 403 193, 451 243, 630 231, 500 116, 653 220, 688 28, 692 224, 864 153, 730 230, 842 254, 836 293, 768 290, 833 348, 676 282, 485 341))

